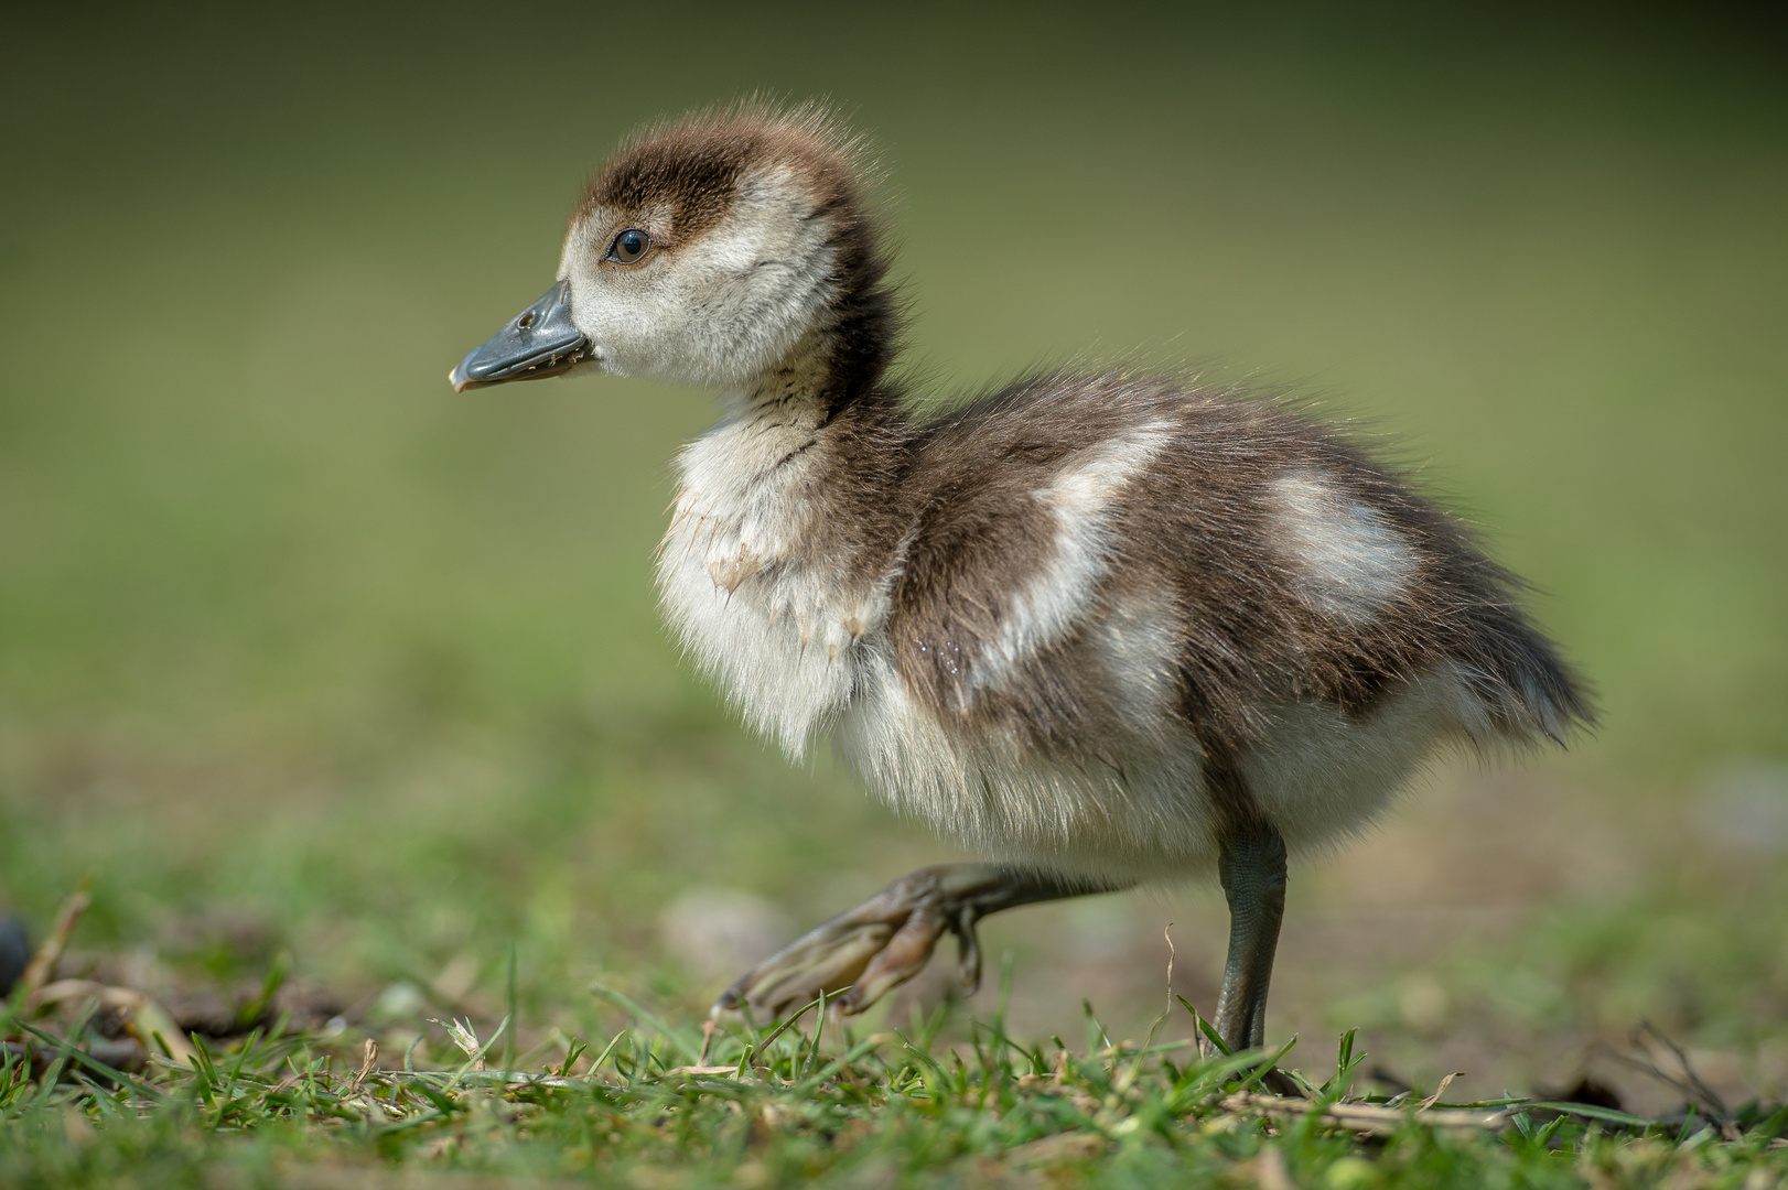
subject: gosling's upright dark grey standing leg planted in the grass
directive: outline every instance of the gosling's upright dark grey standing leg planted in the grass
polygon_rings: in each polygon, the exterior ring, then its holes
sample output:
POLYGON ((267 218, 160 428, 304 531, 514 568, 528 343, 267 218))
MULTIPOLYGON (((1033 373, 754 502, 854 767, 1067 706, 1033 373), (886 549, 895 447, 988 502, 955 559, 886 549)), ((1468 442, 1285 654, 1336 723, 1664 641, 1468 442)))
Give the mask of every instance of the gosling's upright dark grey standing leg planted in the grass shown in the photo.
POLYGON ((1286 840, 1269 822, 1246 822, 1218 843, 1218 879, 1230 904, 1230 952, 1218 997, 1218 1035, 1232 1051, 1266 1043, 1266 986, 1286 915, 1286 840))

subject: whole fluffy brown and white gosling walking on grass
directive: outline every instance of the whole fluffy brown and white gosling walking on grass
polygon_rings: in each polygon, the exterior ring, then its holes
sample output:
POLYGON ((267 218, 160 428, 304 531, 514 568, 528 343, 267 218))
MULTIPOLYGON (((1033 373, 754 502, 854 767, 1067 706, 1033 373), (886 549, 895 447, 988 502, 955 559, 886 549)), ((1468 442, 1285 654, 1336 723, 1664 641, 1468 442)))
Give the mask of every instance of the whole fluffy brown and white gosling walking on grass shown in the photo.
POLYGON ((1216 868, 1214 1024, 1264 1043, 1287 852, 1361 831, 1432 754, 1591 718, 1518 582, 1336 427, 1244 391, 1050 372, 919 418, 858 141, 696 114, 578 200, 558 281, 456 390, 601 372, 715 390, 676 459, 662 606, 744 718, 830 734, 989 856, 923 868, 715 1004, 862 1011, 996 909, 1216 868))

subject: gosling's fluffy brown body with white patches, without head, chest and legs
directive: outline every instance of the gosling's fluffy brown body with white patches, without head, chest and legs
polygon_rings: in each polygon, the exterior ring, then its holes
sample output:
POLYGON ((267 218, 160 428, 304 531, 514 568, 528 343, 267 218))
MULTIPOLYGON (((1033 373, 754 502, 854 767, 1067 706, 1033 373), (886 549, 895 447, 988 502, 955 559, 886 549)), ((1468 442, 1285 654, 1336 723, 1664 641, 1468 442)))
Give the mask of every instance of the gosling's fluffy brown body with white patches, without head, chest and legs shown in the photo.
POLYGON ((1321 843, 1446 740, 1588 720, 1464 527, 1280 406, 1051 373, 912 427, 901 456, 898 697, 846 717, 846 754, 989 842, 1084 854, 1105 817, 1118 854, 1196 849, 1241 797, 1321 843))

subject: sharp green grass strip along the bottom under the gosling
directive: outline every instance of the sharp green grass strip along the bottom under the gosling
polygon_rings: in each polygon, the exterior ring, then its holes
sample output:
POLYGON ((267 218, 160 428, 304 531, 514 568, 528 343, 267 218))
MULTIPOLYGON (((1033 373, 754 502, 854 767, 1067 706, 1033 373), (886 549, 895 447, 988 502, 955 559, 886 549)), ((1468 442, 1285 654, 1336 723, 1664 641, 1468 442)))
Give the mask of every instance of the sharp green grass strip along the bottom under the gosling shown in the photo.
MULTIPOLYGON (((617 997, 619 999, 619 997, 617 997)), ((814 1006, 808 1006, 814 1008, 814 1006)), ((821 1013, 822 1013, 821 1006, 821 1013)), ((132 1079, 57 1058, 70 1081, 0 1070, 0 1177, 16 1186, 368 1185, 395 1170, 601 1185, 1775 1185, 1788 1110, 1647 1122, 1620 1111, 1498 1099, 1416 1102, 1377 1117, 1354 1092, 1364 1054, 1303 1099, 1259 1092, 1257 1058, 1191 1042, 1114 1043, 1087 1010, 1084 1051, 1026 1047, 998 1018, 967 1042, 935 1026, 864 1038, 833 1024, 704 1040, 644 1010, 601 1051, 558 1068, 486 1068, 497 1035, 461 1052, 417 1045, 402 1068, 315 1038, 200 1047, 132 1079), (697 1067, 694 1063, 703 1061, 697 1067), (433 1065, 433 1063, 429 1063, 433 1065), (567 1074, 567 1070, 570 1074, 567 1074), (1348 1111, 1354 1115, 1346 1115, 1348 1111)), ((1160 1022, 1157 1022, 1159 1026, 1160 1022)), ((43 1035, 48 1036, 48 1035, 43 1035)), ((1282 1058, 1284 1061, 1284 1058, 1282 1058)), ((408 1183, 406 1183, 408 1185, 408 1183)), ((426 1183, 424 1183, 426 1185, 426 1183)))

